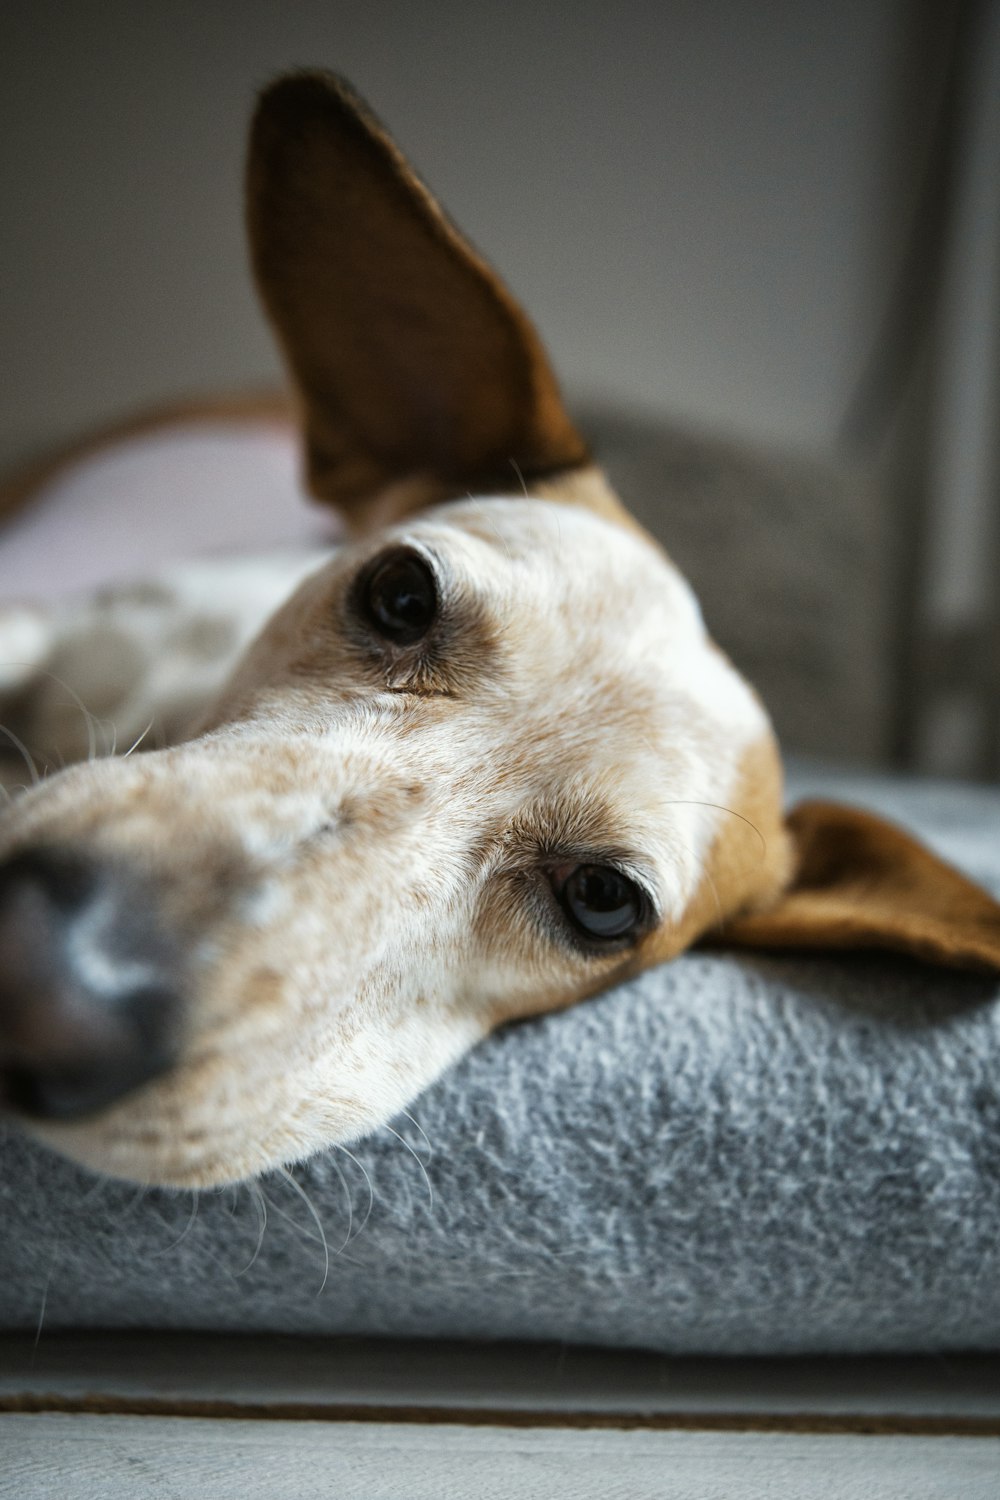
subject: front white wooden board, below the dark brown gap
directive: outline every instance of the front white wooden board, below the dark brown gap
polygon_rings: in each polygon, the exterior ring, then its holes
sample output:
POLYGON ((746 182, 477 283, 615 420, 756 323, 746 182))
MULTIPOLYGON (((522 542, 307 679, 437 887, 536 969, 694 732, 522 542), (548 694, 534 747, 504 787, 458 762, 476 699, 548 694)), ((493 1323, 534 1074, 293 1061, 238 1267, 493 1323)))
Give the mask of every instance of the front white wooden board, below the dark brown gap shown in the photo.
POLYGON ((0 1419, 10 1500, 996 1500, 1000 1443, 0 1419))

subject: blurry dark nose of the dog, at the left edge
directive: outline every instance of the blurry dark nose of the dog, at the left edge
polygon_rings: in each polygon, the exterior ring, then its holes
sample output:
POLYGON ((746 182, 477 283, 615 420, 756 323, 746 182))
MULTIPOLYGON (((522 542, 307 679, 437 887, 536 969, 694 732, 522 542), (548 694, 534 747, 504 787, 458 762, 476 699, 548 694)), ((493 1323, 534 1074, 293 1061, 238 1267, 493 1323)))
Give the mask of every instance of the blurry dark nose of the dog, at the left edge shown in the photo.
POLYGON ((169 1068, 178 974, 141 878, 49 849, 0 864, 0 1104, 75 1119, 169 1068))

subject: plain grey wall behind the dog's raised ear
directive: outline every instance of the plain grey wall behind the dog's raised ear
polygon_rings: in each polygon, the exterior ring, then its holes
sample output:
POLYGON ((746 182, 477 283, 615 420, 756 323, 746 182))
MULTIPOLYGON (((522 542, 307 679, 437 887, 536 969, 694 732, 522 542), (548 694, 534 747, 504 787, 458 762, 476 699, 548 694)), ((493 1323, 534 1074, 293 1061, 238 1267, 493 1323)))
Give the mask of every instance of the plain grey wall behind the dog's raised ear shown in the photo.
POLYGON ((907 225, 921 9, 7 0, 0 462, 273 374, 240 172, 253 90, 291 64, 367 94, 573 390, 829 447, 907 225))

